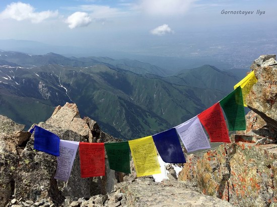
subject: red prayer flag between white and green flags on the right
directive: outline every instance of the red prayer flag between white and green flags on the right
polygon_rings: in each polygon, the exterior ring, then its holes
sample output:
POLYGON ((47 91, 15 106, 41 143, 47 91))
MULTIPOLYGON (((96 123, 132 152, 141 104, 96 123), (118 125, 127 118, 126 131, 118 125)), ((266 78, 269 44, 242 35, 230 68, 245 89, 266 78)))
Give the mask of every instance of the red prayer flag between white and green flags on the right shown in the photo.
POLYGON ((197 115, 210 136, 211 142, 230 142, 219 102, 197 115))

